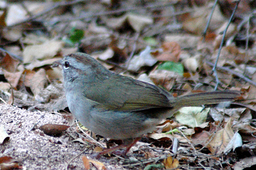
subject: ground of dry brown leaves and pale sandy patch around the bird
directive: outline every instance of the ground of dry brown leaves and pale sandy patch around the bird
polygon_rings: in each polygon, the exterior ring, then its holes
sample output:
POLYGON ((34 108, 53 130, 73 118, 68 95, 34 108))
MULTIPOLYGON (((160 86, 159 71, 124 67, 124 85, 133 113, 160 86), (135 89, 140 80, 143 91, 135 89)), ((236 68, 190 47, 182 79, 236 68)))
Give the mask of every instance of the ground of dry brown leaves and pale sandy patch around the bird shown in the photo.
MULTIPOLYGON (((0 105, 0 125, 7 132, 0 159, 14 162, 10 168, 28 169, 255 166, 251 163, 256 142, 255 22, 253 3, 246 1, 238 5, 228 28, 217 69, 218 90, 241 92, 236 103, 182 108, 179 114, 191 111, 193 121, 178 114, 165 120, 155 132, 143 136, 127 158, 111 155, 93 160, 93 149, 105 145, 102 137, 90 133, 92 141, 74 125, 58 137, 38 129, 46 124, 66 126, 74 119, 67 115, 61 70, 50 65, 78 50, 112 71, 140 77, 174 96, 213 90, 212 64, 232 12, 225 5, 234 7, 223 2, 214 10, 203 41, 201 34, 213 7, 207 1, 0 1, 0 97, 13 98, 14 106, 0 105), (53 110, 61 115, 49 112, 53 110), (177 139, 178 145, 173 144, 177 139)), ((52 126, 48 128, 51 131, 52 126)), ((85 133, 90 136, 89 132, 85 133)), ((116 143, 120 141, 110 140, 110 145, 116 143)), ((3 166, 9 165, 0 161, 3 166)))

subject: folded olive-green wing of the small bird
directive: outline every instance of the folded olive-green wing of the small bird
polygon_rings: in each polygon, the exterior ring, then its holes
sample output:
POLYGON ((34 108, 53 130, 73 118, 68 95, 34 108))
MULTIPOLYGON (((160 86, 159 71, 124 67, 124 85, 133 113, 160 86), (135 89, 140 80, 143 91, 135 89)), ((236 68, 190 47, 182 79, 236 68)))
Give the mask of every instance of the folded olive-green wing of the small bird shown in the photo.
POLYGON ((172 107, 173 96, 157 86, 121 75, 92 84, 84 95, 99 107, 119 111, 172 107))

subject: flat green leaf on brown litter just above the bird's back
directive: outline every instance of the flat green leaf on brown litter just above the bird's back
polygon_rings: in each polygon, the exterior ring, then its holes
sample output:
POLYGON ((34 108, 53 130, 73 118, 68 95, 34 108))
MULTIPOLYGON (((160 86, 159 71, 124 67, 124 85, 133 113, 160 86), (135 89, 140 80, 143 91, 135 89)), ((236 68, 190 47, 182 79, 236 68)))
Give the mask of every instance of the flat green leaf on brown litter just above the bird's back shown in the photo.
POLYGON ((183 67, 182 63, 177 63, 177 62, 172 62, 172 61, 166 61, 162 64, 159 64, 157 69, 177 72, 180 75, 183 75, 183 72, 184 72, 184 67, 183 67))

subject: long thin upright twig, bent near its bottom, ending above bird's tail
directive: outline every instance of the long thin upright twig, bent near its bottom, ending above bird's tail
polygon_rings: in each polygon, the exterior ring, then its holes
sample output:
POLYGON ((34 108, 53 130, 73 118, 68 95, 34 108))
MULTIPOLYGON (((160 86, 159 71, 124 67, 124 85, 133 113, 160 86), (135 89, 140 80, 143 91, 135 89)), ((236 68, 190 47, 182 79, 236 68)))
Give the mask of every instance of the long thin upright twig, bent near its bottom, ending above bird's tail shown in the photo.
POLYGON ((233 10, 233 13, 232 13, 232 15, 231 15, 231 17, 230 17, 230 19, 229 19, 229 21, 228 21, 228 25, 227 25, 226 29, 225 29, 224 32, 223 32, 223 37, 222 37, 222 40, 221 40, 221 43, 220 43, 220 47, 219 47, 219 51, 218 51, 218 54, 217 54, 217 58, 216 58, 214 67, 213 67, 213 69, 212 69, 212 71, 214 72, 215 79, 216 79, 216 86, 215 86, 214 90, 217 90, 218 85, 219 85, 219 83, 220 83, 220 81, 219 81, 219 79, 218 79, 218 76, 217 76, 216 67, 217 67, 217 63, 218 63, 218 61, 219 61, 219 56, 220 56, 221 48, 222 48, 222 46, 223 46, 223 44, 224 44, 224 40, 225 40, 225 37, 226 37, 226 34, 227 34, 228 27, 229 27, 231 21, 233 20, 233 17, 234 17, 234 15, 235 15, 236 10, 237 10, 237 6, 238 6, 238 4, 239 4, 240 1, 241 1, 241 0, 238 0, 238 1, 236 2, 235 9, 233 10))

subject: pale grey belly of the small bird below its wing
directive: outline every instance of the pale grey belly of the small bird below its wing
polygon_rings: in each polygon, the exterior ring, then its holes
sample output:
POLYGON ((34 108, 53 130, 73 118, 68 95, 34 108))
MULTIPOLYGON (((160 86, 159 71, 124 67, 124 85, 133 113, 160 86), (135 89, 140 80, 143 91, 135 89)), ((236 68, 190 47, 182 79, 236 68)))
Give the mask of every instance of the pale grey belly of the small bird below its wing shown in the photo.
POLYGON ((79 122, 92 132, 111 139, 140 137, 153 131, 161 121, 159 118, 149 117, 148 112, 102 109, 91 100, 79 98, 79 94, 69 93, 66 97, 69 110, 79 122))

